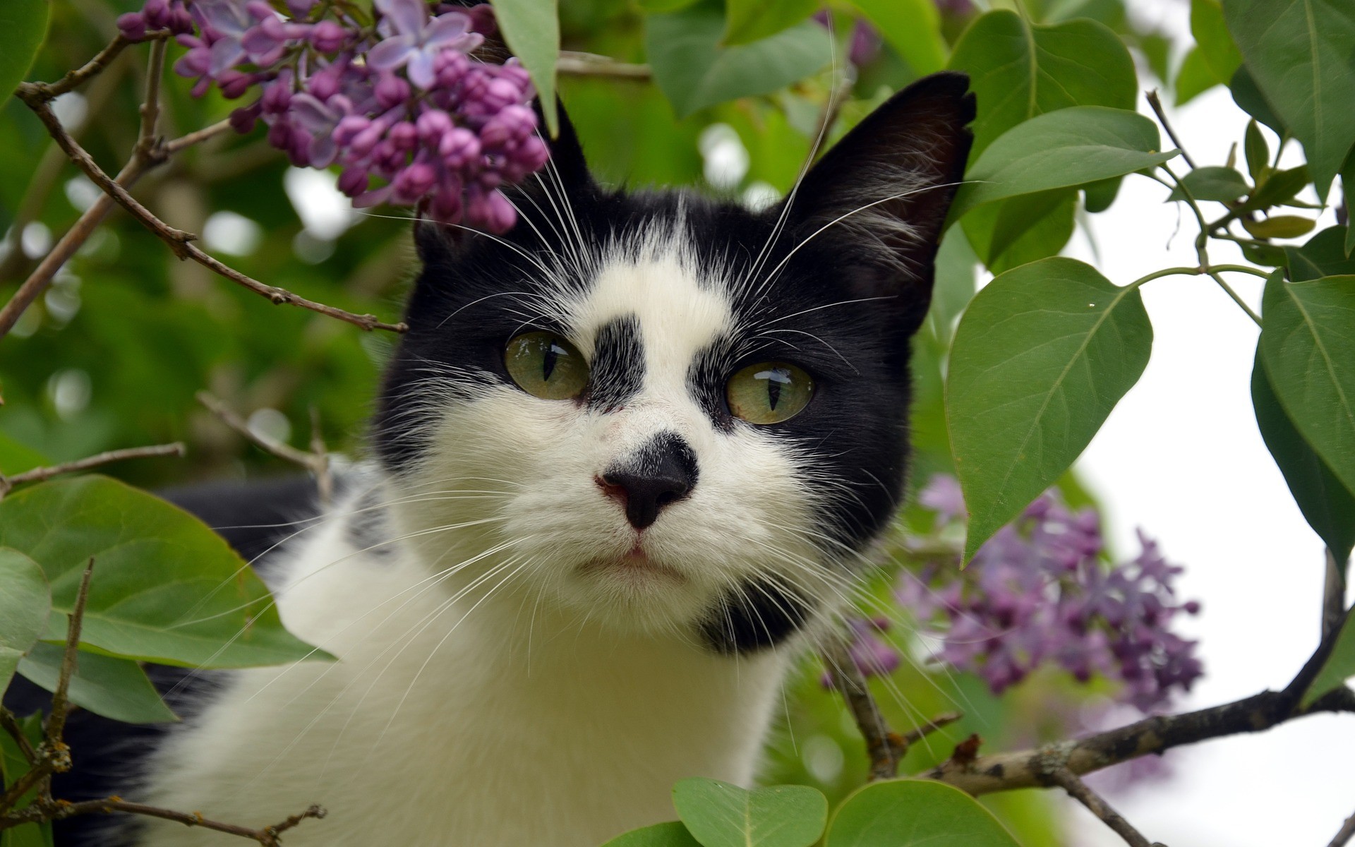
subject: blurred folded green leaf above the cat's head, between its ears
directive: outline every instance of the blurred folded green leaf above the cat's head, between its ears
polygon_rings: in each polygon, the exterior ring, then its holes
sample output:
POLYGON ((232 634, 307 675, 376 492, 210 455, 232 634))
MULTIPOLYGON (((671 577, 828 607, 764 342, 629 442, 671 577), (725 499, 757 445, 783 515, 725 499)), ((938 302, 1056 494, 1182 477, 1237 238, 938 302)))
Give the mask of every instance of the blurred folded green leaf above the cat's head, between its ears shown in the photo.
POLYGON ((813 22, 732 47, 720 46, 724 28, 724 15, 707 4, 645 19, 654 84, 679 118, 725 100, 771 94, 832 58, 827 30, 813 22))

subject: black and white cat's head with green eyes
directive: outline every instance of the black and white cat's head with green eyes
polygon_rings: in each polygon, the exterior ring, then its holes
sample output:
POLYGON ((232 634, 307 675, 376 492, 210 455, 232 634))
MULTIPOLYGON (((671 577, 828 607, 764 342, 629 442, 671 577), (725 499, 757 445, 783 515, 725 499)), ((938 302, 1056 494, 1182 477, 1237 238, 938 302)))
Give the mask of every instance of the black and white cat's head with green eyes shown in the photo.
POLYGON ((503 239, 421 226, 377 442, 432 566, 721 652, 839 606, 904 484, 966 87, 901 92, 767 211, 599 188, 566 134, 503 239))

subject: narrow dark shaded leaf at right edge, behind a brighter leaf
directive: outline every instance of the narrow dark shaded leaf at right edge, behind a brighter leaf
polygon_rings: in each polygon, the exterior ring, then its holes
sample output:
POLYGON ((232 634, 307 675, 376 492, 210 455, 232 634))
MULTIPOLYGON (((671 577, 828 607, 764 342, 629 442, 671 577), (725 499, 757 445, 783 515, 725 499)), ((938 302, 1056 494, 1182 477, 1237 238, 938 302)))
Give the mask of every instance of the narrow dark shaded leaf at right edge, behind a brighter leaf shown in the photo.
POLYGON ((1308 446, 1294 421, 1285 413, 1266 375, 1259 344, 1256 363, 1252 366, 1252 408, 1256 409, 1256 426, 1266 440, 1266 449, 1285 474, 1285 482, 1289 484, 1298 510, 1304 512, 1304 519, 1332 550, 1336 561, 1344 562, 1355 546, 1355 497, 1308 446))

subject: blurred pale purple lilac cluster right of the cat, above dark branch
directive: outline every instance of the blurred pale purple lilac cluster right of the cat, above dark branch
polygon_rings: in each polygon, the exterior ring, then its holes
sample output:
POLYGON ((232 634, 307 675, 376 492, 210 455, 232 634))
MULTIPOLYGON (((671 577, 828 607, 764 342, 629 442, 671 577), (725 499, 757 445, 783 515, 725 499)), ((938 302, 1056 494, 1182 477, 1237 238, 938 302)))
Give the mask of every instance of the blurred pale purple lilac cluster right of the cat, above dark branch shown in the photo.
MULTIPOLYGON (((919 501, 944 526, 965 504, 951 477, 934 477, 919 501)), ((924 626, 939 625, 936 659, 973 671, 1001 693, 1043 663, 1076 679, 1122 683, 1119 699, 1150 711, 1188 691, 1203 668, 1195 642, 1171 632, 1195 600, 1176 600, 1182 568, 1140 531, 1133 560, 1107 565, 1095 510, 1072 511, 1050 491, 1003 527, 970 566, 905 572, 898 602, 924 626)))

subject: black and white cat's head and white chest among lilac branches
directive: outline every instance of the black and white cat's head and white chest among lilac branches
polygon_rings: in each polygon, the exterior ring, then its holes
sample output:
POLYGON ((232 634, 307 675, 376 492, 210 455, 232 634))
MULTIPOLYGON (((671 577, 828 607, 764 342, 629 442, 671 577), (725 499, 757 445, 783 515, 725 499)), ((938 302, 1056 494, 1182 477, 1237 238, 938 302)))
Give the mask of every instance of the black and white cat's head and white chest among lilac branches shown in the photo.
POLYGON ((289 847, 596 847, 680 778, 749 783, 900 503, 966 92, 911 85, 766 211, 603 188, 566 125, 509 233, 419 225, 377 459, 270 565, 339 661, 222 676, 111 787, 249 825, 322 804, 289 847))

